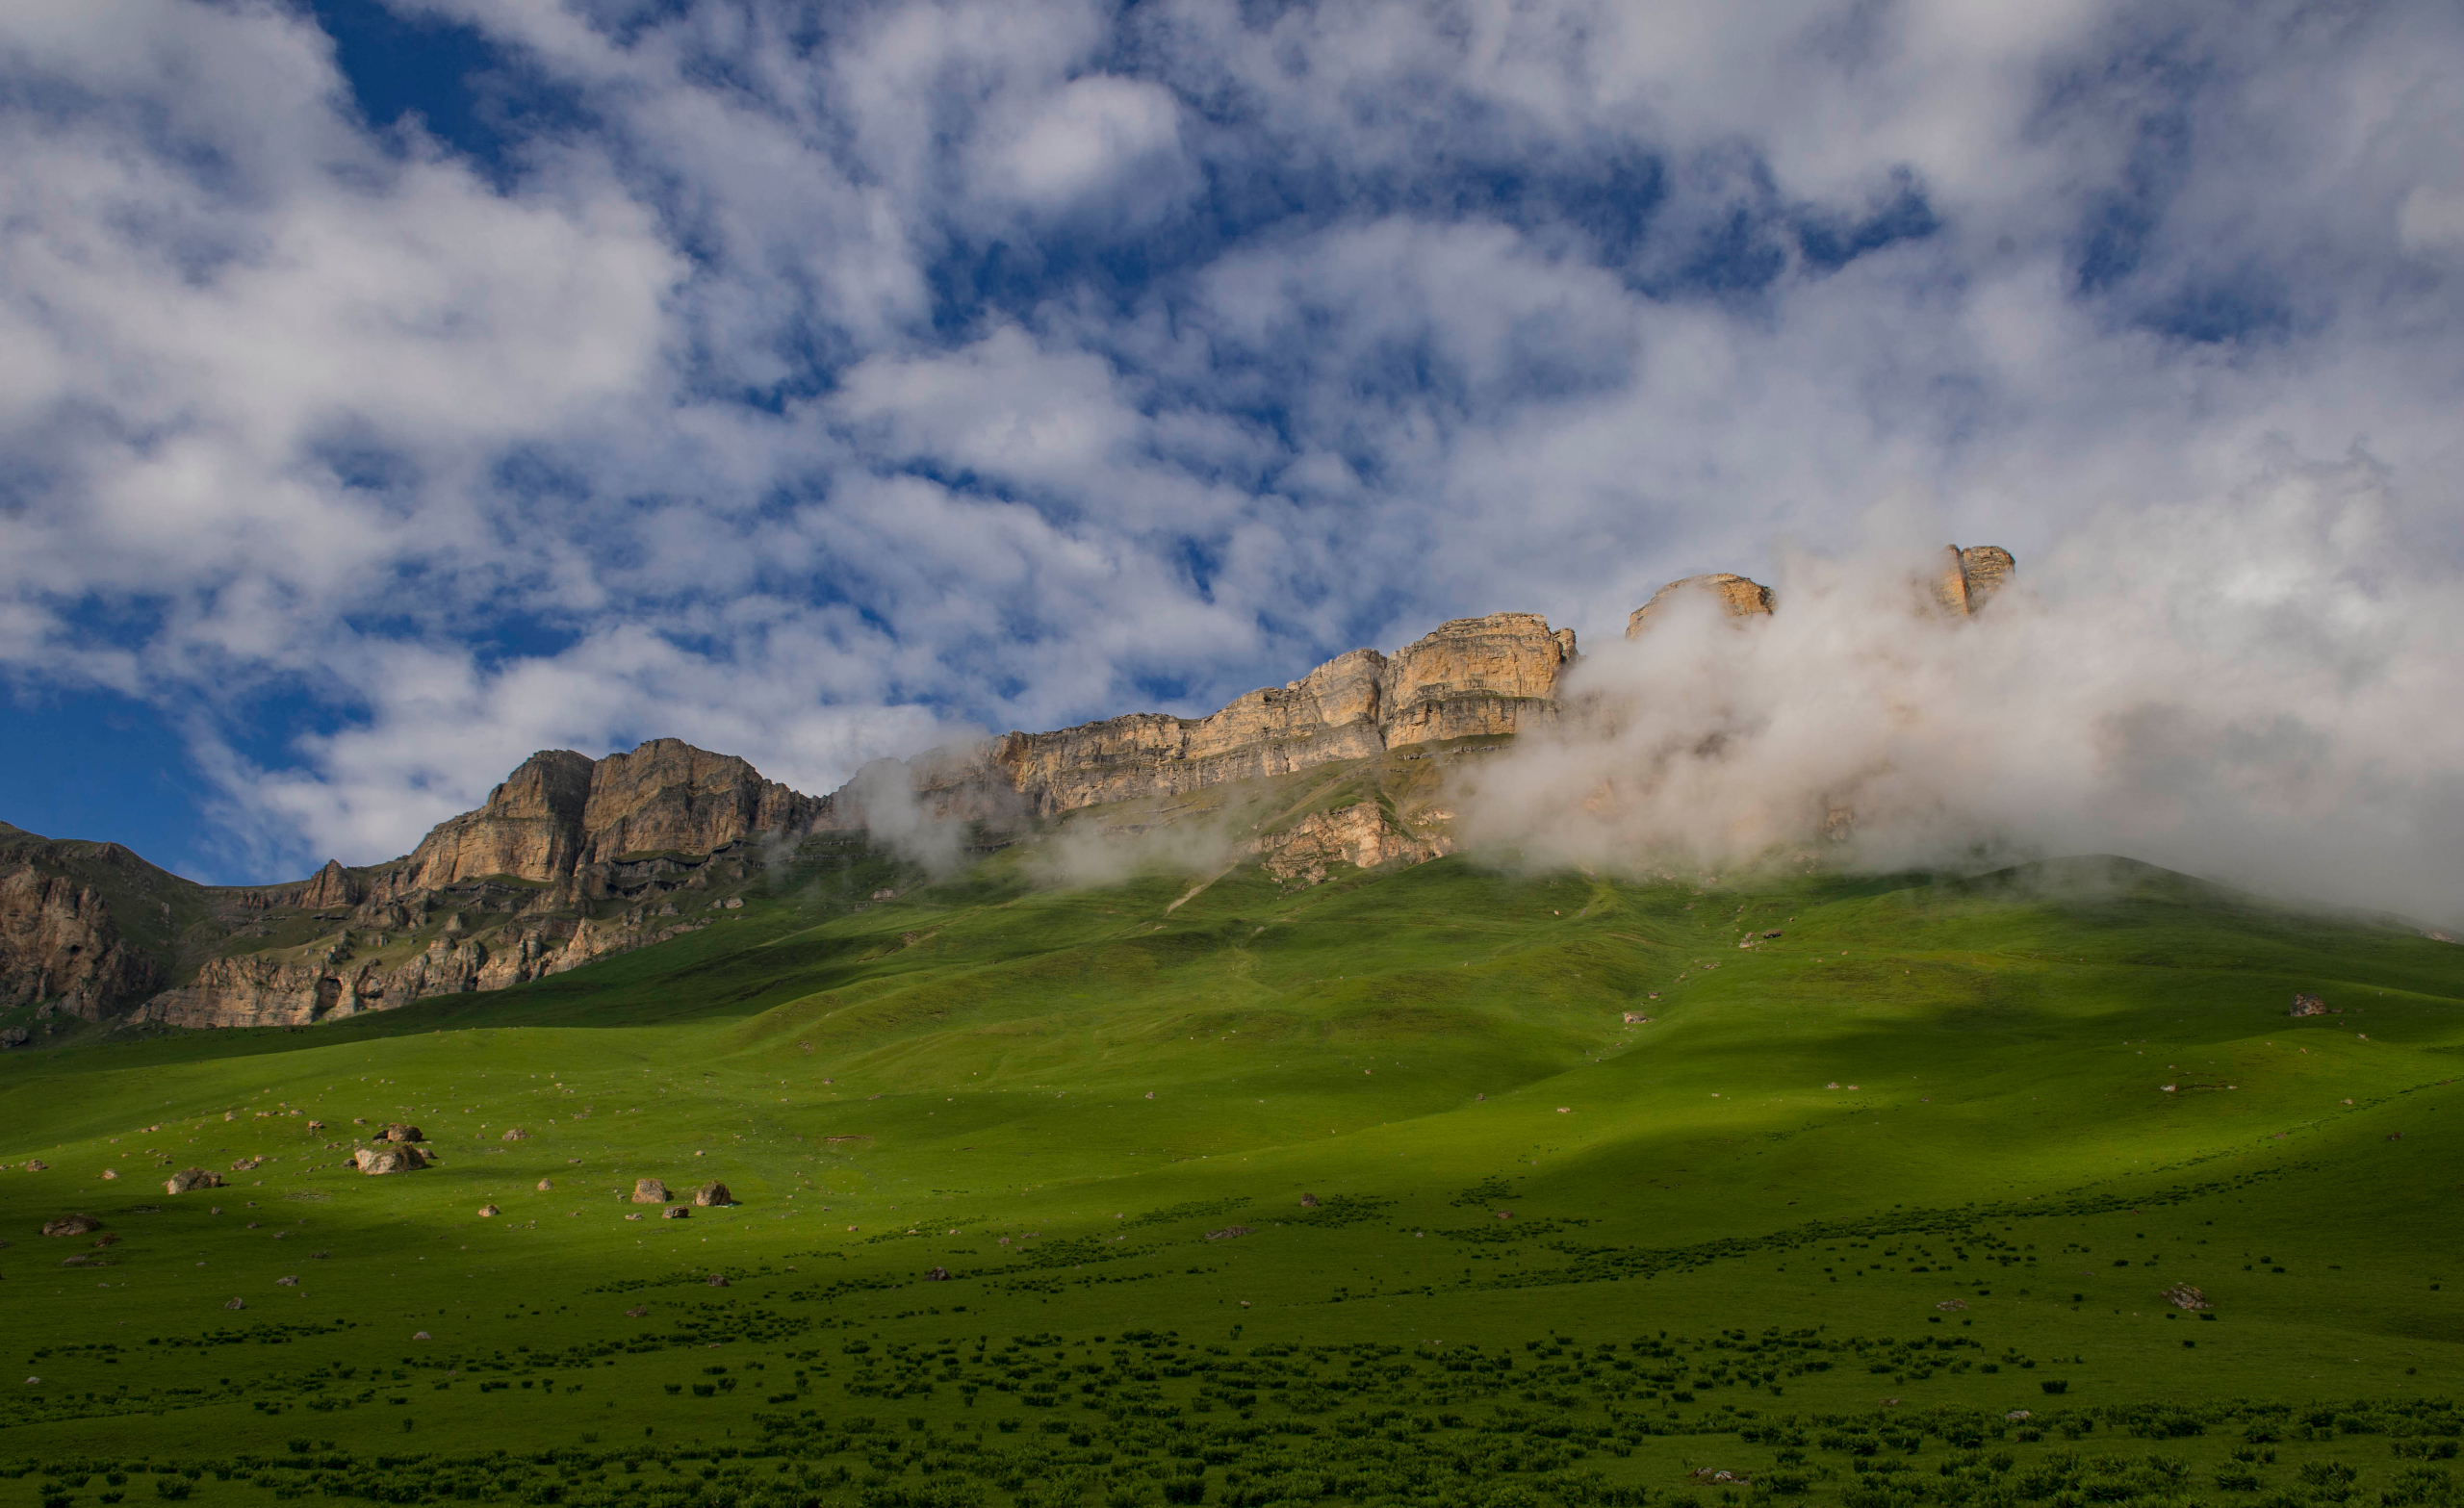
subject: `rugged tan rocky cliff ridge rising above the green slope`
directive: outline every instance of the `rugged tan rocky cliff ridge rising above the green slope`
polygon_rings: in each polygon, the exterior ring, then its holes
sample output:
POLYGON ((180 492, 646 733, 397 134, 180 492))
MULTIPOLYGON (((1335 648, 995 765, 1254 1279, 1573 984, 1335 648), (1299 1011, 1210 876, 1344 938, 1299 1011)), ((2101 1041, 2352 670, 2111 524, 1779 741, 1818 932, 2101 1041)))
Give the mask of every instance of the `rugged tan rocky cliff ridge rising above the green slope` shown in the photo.
MULTIPOLYGON (((2011 577, 1949 547, 1932 599, 1974 614, 2011 577)), ((1772 589, 1688 577, 1730 614, 1772 589)), ((0 830, 0 1015, 172 1028, 310 1025, 500 991, 707 926, 816 833, 963 823, 1005 843, 1055 823, 1106 833, 1212 821, 1279 880, 1451 853, 1449 771, 1560 715, 1572 628, 1454 618, 1392 655, 1355 648, 1207 717, 1133 712, 877 761, 828 796, 744 759, 650 739, 589 759, 542 749, 488 798, 382 865, 207 887, 108 843, 0 830), (1313 771, 1333 771, 1316 779, 1313 771), (885 811, 894 808, 894 811, 885 811)), ((0 1042, 7 1040, 0 1035, 0 1042)))

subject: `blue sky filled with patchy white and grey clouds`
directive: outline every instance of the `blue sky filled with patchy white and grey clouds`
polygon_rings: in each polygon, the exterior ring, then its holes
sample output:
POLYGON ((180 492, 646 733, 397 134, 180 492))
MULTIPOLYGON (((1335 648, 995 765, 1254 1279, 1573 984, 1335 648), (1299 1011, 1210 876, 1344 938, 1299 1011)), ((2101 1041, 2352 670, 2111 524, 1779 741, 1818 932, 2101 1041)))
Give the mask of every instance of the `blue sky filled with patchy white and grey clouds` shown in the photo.
POLYGON ((545 747, 828 791, 1949 540, 2432 779, 2459 76, 2444 0, 0 0, 0 818, 274 880, 545 747))

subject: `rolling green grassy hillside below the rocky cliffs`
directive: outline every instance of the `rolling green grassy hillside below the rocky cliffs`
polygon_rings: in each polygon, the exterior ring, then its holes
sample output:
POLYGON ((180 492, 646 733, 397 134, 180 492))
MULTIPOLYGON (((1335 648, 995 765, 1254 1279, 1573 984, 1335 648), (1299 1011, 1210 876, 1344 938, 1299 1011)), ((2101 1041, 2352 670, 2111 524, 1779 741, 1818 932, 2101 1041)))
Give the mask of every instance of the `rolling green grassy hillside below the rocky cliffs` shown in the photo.
POLYGON ((2449 944, 2119 860, 875 885, 0 1062, 0 1503, 2454 1498, 2449 944))

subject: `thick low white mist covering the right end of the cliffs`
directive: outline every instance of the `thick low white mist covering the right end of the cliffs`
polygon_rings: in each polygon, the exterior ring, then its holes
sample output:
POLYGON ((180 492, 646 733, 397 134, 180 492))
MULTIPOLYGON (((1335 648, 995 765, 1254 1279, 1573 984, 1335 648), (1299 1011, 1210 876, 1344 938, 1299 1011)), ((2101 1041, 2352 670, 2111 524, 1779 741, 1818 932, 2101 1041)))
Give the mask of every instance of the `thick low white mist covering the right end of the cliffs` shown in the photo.
POLYGON ((1464 848, 1621 872, 2119 853, 2452 922, 2464 599, 2390 517, 2363 461, 2284 466, 2087 515, 1961 618, 1919 586, 1942 535, 1878 510, 1860 552, 1784 554, 1772 616, 1688 594, 1594 648, 1560 724, 1464 793, 1464 848))

